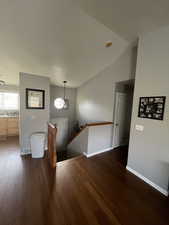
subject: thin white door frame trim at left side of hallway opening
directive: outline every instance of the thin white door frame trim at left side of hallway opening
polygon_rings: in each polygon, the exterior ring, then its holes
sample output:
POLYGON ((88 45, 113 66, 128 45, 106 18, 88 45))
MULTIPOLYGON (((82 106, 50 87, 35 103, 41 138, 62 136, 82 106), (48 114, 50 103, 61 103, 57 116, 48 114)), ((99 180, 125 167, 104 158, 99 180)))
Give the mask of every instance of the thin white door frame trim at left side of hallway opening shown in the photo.
POLYGON ((117 113, 116 113, 116 110, 117 110, 117 107, 118 107, 118 97, 119 96, 126 96, 126 93, 122 93, 122 92, 115 92, 115 102, 114 102, 114 117, 113 117, 113 148, 117 148, 118 146, 115 146, 115 143, 114 143, 114 140, 115 140, 115 135, 116 135, 116 132, 115 132, 115 129, 116 129, 116 126, 117 126, 117 113))

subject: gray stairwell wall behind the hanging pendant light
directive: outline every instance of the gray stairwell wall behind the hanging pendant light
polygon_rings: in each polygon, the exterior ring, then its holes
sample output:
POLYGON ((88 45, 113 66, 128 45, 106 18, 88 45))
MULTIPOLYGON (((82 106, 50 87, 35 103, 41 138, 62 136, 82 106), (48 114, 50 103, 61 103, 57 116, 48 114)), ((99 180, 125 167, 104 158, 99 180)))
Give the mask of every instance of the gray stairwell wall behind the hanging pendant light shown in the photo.
POLYGON ((54 100, 63 97, 63 87, 50 87, 50 118, 66 117, 69 120, 69 135, 76 123, 76 88, 66 88, 66 97, 69 99, 69 108, 57 110, 54 107, 54 100))

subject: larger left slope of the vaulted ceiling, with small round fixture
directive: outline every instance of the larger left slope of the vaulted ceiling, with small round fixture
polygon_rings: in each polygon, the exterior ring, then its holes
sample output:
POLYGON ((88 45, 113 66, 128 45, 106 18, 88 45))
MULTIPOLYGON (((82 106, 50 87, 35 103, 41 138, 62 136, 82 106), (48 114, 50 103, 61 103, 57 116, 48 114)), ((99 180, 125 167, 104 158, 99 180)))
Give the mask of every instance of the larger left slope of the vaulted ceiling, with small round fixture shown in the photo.
POLYGON ((126 46, 71 0, 0 0, 0 79, 8 84, 18 84, 19 72, 27 72, 77 87, 126 46))

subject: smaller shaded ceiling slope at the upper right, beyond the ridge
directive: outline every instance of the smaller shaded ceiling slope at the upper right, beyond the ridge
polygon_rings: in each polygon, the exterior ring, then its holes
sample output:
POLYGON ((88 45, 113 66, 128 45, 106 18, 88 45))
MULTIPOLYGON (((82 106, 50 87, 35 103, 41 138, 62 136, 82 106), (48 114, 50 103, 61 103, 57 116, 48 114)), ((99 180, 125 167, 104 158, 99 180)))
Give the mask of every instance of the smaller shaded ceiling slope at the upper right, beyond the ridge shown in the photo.
POLYGON ((169 0, 74 0, 88 15, 133 41, 169 24, 169 0))

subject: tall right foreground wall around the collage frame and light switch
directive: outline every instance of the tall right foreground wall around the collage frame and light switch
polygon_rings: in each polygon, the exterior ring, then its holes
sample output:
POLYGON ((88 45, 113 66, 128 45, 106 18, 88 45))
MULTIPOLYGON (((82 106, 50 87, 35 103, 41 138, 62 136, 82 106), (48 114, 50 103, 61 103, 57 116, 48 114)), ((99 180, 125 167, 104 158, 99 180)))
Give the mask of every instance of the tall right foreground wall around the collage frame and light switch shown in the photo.
POLYGON ((128 166, 161 188, 169 178, 169 27, 142 36, 133 102, 128 166), (166 96, 164 120, 138 118, 139 97, 166 96), (135 125, 144 131, 135 130, 135 125))

